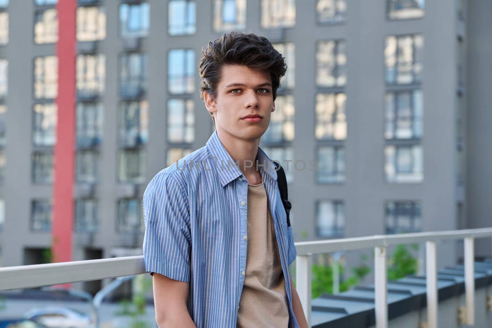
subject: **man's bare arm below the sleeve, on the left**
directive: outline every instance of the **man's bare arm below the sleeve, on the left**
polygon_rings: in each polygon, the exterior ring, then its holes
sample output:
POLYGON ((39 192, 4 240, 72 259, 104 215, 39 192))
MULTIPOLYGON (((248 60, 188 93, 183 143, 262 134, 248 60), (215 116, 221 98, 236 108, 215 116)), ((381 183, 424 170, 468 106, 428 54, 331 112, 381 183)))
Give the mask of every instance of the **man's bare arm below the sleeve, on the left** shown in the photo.
POLYGON ((155 321, 159 328, 196 328, 187 309, 189 283, 154 273, 155 321))

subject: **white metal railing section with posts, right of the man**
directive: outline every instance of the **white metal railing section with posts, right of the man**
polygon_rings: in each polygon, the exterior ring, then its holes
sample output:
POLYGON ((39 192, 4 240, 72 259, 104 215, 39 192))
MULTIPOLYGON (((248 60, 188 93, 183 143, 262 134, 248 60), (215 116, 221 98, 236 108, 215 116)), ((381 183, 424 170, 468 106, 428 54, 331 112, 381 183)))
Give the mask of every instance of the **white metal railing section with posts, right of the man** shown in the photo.
POLYGON ((437 328, 436 241, 464 240, 465 323, 474 324, 474 239, 491 238, 492 228, 384 235, 361 238, 303 241, 296 243, 297 293, 301 298, 307 324, 311 327, 311 257, 313 254, 374 248, 374 293, 376 328, 388 327, 388 290, 386 248, 391 245, 426 243, 427 327, 437 328))

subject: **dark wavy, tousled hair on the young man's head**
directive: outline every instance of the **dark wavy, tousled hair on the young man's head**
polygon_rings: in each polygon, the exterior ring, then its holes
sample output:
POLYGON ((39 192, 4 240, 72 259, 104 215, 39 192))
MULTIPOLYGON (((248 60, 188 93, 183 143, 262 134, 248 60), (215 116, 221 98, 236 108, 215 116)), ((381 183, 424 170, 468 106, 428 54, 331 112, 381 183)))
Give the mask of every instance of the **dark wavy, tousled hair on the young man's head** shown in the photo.
MULTIPOLYGON (((200 97, 205 92, 216 99, 217 85, 220 81, 222 65, 245 65, 252 69, 268 70, 272 78, 272 93, 277 98, 280 78, 285 75, 287 64, 272 43, 264 36, 254 33, 231 31, 210 41, 207 48, 202 47, 200 58, 200 97)), ((213 113, 210 113, 215 122, 213 113)))

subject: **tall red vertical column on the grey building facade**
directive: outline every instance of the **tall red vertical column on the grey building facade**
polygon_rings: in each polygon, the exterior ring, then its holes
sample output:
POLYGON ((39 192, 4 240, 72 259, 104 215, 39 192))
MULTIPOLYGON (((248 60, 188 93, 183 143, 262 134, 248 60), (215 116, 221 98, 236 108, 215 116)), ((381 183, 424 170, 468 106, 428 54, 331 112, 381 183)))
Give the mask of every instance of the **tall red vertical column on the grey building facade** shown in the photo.
MULTIPOLYGON (((77 0, 59 0, 58 10, 58 123, 54 149, 53 262, 72 260, 73 184, 75 171, 75 56, 77 0)), ((69 285, 67 285, 69 286, 69 285)))

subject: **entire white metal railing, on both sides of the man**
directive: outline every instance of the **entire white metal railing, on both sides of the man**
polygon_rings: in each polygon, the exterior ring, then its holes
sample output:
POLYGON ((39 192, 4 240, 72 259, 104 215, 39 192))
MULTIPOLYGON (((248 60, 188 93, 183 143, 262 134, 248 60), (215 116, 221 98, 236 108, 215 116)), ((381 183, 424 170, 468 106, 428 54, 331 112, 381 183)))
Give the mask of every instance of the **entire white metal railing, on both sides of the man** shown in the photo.
MULTIPOLYGON (((386 248, 426 243, 427 327, 437 328, 436 241, 464 240, 465 323, 474 325, 474 239, 491 238, 492 228, 297 242, 297 293, 310 327, 313 254, 374 248, 376 328, 388 327, 386 248)), ((0 268, 0 291, 145 273, 143 256, 0 268)))

